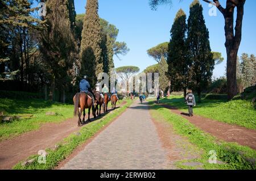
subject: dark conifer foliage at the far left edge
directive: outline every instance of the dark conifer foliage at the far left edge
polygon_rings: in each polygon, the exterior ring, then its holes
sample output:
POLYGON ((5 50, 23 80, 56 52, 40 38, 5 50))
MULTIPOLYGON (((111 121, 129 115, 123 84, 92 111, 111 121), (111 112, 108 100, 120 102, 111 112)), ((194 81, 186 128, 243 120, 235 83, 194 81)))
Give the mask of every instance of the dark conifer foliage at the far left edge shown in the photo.
POLYGON ((35 46, 32 33, 40 20, 30 15, 35 9, 29 1, 1 0, 0 7, 0 80, 15 79, 30 84, 30 61, 34 55, 31 52, 35 46))

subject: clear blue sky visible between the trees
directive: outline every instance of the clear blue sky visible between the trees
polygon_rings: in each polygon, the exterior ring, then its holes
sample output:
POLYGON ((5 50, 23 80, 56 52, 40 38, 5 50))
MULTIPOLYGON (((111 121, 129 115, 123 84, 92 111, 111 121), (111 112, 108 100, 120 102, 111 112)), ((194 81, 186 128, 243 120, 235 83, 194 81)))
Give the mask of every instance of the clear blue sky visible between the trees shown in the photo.
MULTIPOLYGON (((141 71, 147 66, 156 64, 148 57, 146 50, 162 43, 170 41, 170 30, 174 22, 176 12, 181 8, 189 15, 189 5, 192 0, 174 0, 172 6, 159 6, 157 11, 152 11, 148 0, 99 0, 99 15, 108 20, 119 29, 118 41, 125 41, 130 48, 121 61, 114 57, 115 67, 134 65, 141 71)), ((208 3, 200 1, 204 8, 204 18, 209 29, 210 45, 213 51, 221 52, 225 61, 217 65, 213 76, 221 77, 225 73, 226 50, 224 18, 217 11, 217 16, 209 16, 208 3)), ((220 0, 225 6, 225 0, 220 0)), ((77 14, 85 13, 86 0, 75 0, 77 14)), ((242 42, 238 55, 243 52, 256 54, 256 1, 247 0, 245 3, 245 15, 243 20, 242 42)))

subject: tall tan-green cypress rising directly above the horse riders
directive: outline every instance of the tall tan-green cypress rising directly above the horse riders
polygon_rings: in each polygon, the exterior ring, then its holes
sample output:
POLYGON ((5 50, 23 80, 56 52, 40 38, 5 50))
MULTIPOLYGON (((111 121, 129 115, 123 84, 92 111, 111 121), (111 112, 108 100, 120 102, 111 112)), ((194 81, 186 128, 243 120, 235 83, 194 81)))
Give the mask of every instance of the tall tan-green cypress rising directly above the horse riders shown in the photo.
POLYGON ((98 74, 103 72, 101 41, 98 0, 88 0, 82 29, 80 58, 81 73, 88 75, 91 85, 96 83, 98 74))

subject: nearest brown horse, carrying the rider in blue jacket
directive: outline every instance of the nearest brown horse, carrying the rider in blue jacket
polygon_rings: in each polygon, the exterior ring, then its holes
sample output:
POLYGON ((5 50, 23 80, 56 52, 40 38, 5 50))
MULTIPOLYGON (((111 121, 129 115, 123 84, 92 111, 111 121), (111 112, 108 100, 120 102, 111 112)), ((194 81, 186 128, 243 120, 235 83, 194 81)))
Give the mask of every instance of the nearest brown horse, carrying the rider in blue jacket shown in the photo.
POLYGON ((93 101, 85 92, 76 93, 73 98, 74 102, 74 116, 79 116, 78 126, 80 127, 82 123, 85 123, 85 109, 88 108, 88 121, 90 122, 90 108, 92 108, 93 116, 96 118, 94 113, 93 101), (80 110, 79 110, 80 108, 80 110), (84 118, 81 121, 81 113, 84 111, 84 118))

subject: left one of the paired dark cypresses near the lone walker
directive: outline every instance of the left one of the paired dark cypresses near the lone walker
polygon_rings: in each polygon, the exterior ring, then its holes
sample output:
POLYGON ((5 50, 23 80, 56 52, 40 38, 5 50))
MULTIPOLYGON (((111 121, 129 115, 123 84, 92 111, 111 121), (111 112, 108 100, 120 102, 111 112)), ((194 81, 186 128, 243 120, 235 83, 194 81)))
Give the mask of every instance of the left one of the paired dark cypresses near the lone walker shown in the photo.
POLYGON ((172 90, 184 90, 187 93, 189 69, 188 69, 188 49, 185 45, 187 32, 186 15, 183 10, 176 14, 174 24, 171 28, 171 40, 168 48, 168 76, 171 79, 172 90))

